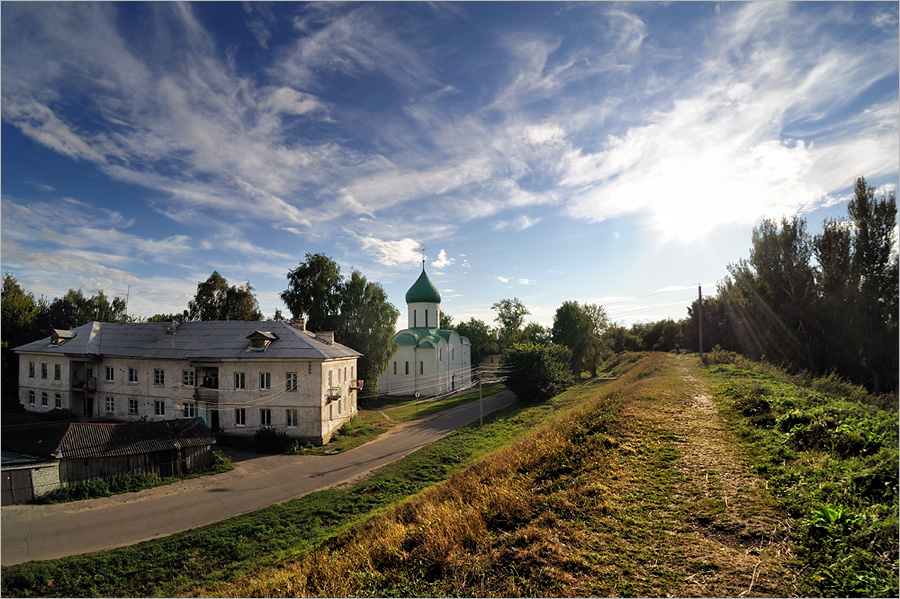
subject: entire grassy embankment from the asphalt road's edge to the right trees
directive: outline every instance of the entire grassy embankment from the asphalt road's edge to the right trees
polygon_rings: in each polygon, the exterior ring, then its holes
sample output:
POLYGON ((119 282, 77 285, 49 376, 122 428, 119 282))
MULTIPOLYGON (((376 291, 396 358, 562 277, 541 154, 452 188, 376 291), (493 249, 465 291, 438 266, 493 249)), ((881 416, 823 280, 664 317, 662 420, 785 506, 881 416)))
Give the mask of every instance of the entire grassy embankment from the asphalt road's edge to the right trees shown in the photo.
POLYGON ((626 354, 352 487, 4 567, 2 591, 896 596, 896 400, 712 362, 626 354))

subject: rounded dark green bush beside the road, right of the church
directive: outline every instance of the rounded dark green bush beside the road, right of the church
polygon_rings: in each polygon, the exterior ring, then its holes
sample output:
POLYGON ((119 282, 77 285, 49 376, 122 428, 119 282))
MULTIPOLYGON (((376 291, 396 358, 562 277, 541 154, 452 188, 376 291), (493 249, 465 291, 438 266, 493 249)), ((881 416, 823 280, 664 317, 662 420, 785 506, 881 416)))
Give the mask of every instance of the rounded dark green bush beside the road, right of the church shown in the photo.
POLYGON ((572 352, 556 345, 517 343, 504 356, 504 383, 522 401, 540 401, 565 391, 573 382, 572 352))

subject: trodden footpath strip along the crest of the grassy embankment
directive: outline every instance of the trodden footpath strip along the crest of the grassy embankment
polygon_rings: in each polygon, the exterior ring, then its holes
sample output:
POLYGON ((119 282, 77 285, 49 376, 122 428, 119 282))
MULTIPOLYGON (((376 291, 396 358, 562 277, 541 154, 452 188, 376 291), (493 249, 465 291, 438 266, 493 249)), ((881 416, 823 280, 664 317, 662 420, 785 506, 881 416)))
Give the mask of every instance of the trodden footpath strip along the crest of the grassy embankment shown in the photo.
POLYGON ((647 528, 634 559, 672 579, 656 590, 793 594, 786 520, 720 416, 696 358, 663 357, 629 395, 614 490, 620 501, 640 502, 628 514, 632 526, 643 517, 647 528))

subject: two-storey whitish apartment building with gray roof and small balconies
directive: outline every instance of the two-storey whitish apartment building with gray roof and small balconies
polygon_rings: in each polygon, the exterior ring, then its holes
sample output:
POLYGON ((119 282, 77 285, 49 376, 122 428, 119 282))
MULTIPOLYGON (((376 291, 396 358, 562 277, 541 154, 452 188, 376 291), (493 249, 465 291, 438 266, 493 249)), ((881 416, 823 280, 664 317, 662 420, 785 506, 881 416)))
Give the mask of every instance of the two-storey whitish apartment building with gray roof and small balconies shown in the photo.
POLYGON ((356 361, 302 321, 91 322, 16 348, 19 401, 33 412, 260 427, 321 445, 357 411, 356 361))

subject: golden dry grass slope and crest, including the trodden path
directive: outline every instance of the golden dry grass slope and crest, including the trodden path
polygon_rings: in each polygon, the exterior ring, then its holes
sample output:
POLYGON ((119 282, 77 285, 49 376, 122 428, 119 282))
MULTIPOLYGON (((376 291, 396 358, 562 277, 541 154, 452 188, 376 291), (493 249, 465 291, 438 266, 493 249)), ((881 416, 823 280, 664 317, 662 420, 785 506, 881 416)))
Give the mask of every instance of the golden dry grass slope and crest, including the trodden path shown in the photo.
POLYGON ((794 594, 786 525, 700 376, 688 358, 646 357, 447 482, 197 594, 794 594))

